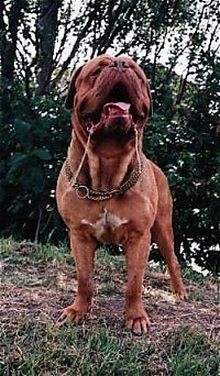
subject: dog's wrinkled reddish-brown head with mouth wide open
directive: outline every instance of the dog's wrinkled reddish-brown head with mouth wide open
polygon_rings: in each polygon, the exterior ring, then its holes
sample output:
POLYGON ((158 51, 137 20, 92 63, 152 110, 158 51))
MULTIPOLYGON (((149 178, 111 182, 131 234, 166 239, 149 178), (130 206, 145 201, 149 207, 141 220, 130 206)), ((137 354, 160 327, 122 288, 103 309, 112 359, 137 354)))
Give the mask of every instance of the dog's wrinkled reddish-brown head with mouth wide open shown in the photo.
POLYGON ((73 75, 66 106, 74 108, 74 122, 92 137, 132 137, 151 115, 151 95, 143 70, 132 59, 102 55, 73 75))

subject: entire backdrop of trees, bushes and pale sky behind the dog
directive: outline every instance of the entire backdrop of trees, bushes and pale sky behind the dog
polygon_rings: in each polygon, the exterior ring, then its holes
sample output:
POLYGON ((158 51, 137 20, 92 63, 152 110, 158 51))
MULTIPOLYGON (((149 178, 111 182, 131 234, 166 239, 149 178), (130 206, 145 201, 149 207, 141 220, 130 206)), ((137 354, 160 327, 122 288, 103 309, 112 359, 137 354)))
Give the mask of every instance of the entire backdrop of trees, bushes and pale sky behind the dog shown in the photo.
POLYGON ((54 200, 70 134, 63 87, 78 63, 125 53, 150 77, 154 117, 144 150, 169 179, 177 253, 218 272, 218 0, 90 0, 78 8, 70 0, 2 0, 2 234, 66 236, 54 200))

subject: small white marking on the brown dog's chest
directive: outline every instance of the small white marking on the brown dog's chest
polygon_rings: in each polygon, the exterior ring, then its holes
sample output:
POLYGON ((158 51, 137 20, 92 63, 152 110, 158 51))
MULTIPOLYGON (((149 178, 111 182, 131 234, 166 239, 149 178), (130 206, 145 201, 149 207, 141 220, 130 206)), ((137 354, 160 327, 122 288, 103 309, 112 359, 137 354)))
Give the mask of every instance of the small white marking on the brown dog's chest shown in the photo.
POLYGON ((82 224, 88 224, 95 229, 97 239, 100 239, 105 231, 110 230, 113 232, 117 228, 128 222, 129 220, 121 219, 114 214, 109 213, 107 209, 105 209, 105 212, 99 215, 98 221, 96 221, 95 223, 91 223, 86 219, 81 220, 82 224))

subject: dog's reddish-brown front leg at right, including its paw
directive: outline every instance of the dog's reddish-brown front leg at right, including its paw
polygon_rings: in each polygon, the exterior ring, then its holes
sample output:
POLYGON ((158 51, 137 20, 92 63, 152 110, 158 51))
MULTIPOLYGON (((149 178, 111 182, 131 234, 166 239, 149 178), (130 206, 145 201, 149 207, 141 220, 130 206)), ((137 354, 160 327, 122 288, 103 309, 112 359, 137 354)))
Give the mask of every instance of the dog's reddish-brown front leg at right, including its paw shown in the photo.
POLYGON ((128 284, 125 290, 125 325, 134 334, 147 332, 150 319, 142 302, 143 278, 150 252, 151 233, 130 241, 125 246, 128 284))

